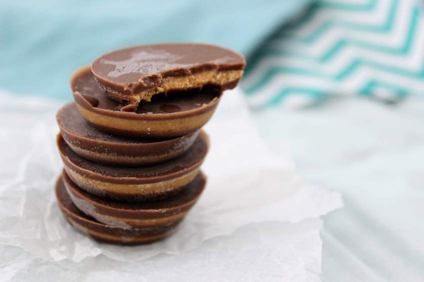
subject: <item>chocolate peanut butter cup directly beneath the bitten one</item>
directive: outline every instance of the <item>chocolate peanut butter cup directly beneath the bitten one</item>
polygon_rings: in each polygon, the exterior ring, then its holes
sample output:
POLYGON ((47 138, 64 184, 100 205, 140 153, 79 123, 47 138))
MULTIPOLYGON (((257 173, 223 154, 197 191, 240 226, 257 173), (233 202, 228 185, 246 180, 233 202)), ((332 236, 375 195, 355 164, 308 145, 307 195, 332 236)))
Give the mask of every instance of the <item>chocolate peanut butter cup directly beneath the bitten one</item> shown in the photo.
POLYGON ((189 134, 202 127, 218 105, 221 91, 214 87, 155 95, 140 103, 135 112, 107 97, 89 67, 75 71, 70 79, 81 115, 103 132, 138 137, 164 138, 189 134))

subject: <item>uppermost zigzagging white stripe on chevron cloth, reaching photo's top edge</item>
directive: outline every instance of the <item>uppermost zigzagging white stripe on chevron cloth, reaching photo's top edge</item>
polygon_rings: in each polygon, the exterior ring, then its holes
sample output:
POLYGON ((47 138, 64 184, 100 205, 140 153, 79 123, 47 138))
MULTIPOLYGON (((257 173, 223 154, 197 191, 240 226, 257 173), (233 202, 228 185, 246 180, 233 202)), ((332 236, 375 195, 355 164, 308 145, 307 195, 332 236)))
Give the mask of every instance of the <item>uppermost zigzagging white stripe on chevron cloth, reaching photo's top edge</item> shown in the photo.
POLYGON ((321 26, 325 21, 328 20, 342 20, 352 23, 360 22, 361 24, 380 25, 386 20, 386 15, 390 9, 390 4, 390 0, 379 0, 377 1, 377 5, 373 10, 365 12, 351 12, 340 9, 320 9, 310 21, 304 24, 299 24, 298 27, 296 26, 289 30, 282 30, 280 34, 291 35, 294 33, 297 36, 305 37, 311 34, 318 26, 321 26))

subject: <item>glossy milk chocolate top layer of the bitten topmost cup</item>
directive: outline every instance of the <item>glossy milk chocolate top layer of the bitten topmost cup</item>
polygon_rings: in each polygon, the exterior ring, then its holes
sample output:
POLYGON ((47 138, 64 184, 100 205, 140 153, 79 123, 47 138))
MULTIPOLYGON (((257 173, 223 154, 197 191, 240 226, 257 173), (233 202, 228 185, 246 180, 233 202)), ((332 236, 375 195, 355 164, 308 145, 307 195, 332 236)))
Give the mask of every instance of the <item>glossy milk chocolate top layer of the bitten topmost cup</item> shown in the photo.
POLYGON ((188 69, 242 69, 244 65, 242 55, 216 45, 165 43, 107 53, 91 64, 91 71, 97 78, 111 84, 127 85, 143 81, 144 88, 148 89, 154 87, 151 85, 154 77, 151 77, 157 74, 180 76, 187 75, 188 69))

